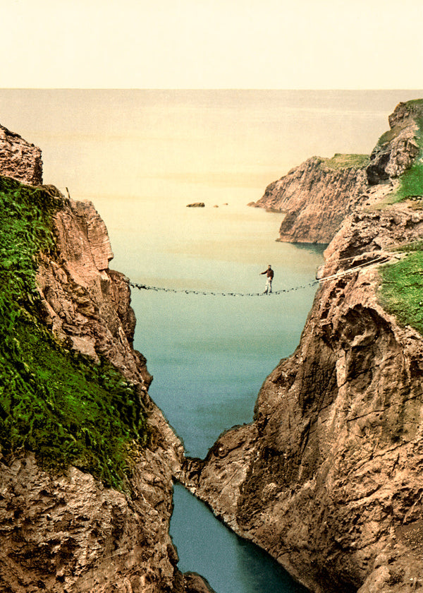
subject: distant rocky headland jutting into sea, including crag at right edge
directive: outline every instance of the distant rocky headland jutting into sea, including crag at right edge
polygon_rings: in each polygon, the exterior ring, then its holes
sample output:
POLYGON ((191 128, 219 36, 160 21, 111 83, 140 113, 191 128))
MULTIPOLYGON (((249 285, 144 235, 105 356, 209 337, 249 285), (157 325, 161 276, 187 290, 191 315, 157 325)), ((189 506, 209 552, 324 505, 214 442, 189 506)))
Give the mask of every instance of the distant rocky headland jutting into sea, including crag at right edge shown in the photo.
POLYGON ((366 197, 369 186, 398 178, 419 152, 415 138, 418 102, 400 103, 389 116, 390 129, 372 154, 312 157, 267 186, 250 205, 283 212, 280 241, 329 243, 346 215, 366 197))

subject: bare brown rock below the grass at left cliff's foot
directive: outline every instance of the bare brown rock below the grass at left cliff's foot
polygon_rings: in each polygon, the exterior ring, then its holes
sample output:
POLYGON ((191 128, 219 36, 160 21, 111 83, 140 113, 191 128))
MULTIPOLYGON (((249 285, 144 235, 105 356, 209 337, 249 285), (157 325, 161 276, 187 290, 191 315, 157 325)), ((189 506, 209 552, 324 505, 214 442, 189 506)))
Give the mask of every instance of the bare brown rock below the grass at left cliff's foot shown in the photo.
POLYGON ((175 590, 171 472, 160 452, 142 455, 134 484, 128 500, 75 467, 55 478, 32 455, 1 463, 0 590, 175 590))

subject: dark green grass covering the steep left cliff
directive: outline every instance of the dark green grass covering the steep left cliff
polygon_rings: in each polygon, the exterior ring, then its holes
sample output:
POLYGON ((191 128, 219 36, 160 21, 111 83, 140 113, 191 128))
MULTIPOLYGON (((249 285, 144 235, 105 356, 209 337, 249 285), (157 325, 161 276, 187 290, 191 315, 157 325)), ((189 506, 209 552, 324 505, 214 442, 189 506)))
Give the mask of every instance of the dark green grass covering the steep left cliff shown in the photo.
POLYGON ((63 347, 41 321, 37 256, 54 252, 60 207, 44 188, 0 178, 0 446, 125 489, 128 453, 148 435, 136 389, 107 361, 63 347))

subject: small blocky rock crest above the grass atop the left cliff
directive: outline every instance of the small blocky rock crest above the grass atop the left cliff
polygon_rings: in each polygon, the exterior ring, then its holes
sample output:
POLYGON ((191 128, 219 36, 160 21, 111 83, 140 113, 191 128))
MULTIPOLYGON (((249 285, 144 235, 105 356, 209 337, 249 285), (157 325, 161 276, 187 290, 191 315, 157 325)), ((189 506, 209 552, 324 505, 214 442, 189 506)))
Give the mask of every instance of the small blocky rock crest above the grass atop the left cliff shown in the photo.
POLYGON ((42 184, 42 157, 37 146, 0 125, 0 175, 24 184, 42 184))

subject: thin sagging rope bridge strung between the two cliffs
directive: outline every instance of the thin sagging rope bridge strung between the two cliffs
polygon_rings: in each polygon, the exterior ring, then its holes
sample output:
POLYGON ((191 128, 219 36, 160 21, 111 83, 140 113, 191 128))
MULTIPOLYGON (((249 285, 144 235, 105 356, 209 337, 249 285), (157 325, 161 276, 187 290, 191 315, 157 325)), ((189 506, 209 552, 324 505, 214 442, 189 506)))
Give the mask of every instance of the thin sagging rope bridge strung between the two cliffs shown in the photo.
MULTIPOLYGON (((357 256, 355 256, 357 257, 357 256)), ((274 290, 269 294, 285 294, 287 292, 294 292, 296 290, 302 290, 308 287, 316 286, 317 284, 322 284, 323 282, 328 282, 329 280, 336 280, 343 276, 347 276, 349 274, 353 274, 355 272, 359 272, 364 268, 369 268, 371 265, 380 265, 381 263, 387 263, 392 257, 395 256, 379 256, 376 257, 368 262, 361 263, 360 265, 356 265, 353 268, 349 268, 348 270, 343 270, 342 272, 336 272, 336 274, 332 274, 330 276, 325 276, 323 278, 319 278, 319 280, 312 280, 312 282, 307 282, 307 284, 301 284, 300 286, 295 286, 292 288, 284 288, 281 290, 274 290)), ((354 258, 347 258, 347 259, 354 259, 354 258)), ((190 289, 183 289, 183 288, 164 288, 158 286, 148 286, 147 284, 137 284, 136 282, 129 283, 131 287, 137 288, 139 290, 154 290, 156 292, 179 292, 184 294, 200 294, 203 296, 268 296, 266 292, 216 292, 216 291, 205 291, 205 290, 190 290, 190 289)))

